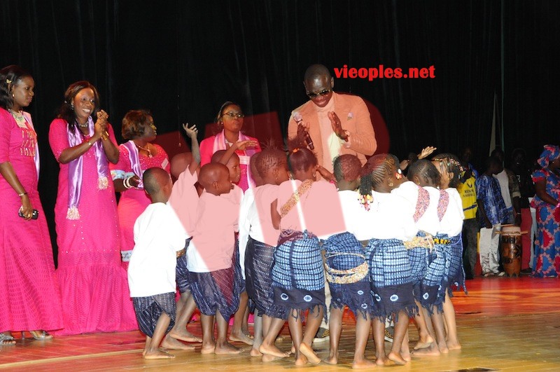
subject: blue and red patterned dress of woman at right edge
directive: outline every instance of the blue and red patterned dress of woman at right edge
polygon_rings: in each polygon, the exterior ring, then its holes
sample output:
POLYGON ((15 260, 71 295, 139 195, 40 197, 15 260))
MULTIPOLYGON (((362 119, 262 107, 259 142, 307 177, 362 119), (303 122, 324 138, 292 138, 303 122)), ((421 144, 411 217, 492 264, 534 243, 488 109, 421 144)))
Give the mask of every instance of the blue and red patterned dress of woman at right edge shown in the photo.
MULTIPOLYGON (((560 200, 560 177, 548 169, 533 173, 533 181, 545 181, 548 195, 560 200)), ((538 235, 535 239, 533 277, 560 276, 560 209, 535 196, 531 206, 536 208, 538 235)))

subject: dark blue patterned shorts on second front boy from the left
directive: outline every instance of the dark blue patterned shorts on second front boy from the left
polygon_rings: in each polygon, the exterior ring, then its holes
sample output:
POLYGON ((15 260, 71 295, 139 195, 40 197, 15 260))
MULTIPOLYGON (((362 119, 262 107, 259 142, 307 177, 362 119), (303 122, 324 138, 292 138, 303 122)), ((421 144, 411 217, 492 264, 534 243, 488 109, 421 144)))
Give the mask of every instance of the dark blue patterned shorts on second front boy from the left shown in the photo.
POLYGON ((190 291, 202 314, 216 315, 219 311, 224 319, 230 319, 237 311, 239 294, 236 296, 233 268, 210 273, 190 273, 190 277, 190 291))

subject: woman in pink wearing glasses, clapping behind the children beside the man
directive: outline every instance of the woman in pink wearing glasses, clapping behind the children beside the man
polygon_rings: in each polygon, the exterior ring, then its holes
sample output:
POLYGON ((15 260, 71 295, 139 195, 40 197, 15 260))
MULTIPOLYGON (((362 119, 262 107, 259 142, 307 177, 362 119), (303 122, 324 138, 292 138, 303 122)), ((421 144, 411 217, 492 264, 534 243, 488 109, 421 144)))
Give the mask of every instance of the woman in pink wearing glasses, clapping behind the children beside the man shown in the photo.
POLYGON ((245 192, 248 188, 255 187, 248 165, 251 156, 260 152, 260 146, 258 139, 241 133, 244 117, 245 114, 239 104, 227 101, 221 106, 216 117, 221 132, 200 142, 200 166, 210 163, 212 154, 216 151, 235 146, 237 148, 235 153, 239 156, 239 168, 241 168, 241 179, 237 186, 245 192), (253 143, 256 143, 256 146, 252 146, 253 143))

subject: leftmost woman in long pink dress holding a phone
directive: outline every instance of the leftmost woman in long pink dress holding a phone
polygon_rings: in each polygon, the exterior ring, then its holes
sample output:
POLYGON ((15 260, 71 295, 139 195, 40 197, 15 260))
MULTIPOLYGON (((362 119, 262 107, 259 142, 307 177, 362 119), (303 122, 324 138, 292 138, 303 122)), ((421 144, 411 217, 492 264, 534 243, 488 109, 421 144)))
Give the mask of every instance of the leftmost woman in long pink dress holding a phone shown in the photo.
POLYGON ((39 153, 29 113, 35 83, 18 66, 0 70, 0 346, 10 331, 61 329, 60 294, 47 220, 37 191, 39 153), (36 211, 36 212, 34 212, 36 211))

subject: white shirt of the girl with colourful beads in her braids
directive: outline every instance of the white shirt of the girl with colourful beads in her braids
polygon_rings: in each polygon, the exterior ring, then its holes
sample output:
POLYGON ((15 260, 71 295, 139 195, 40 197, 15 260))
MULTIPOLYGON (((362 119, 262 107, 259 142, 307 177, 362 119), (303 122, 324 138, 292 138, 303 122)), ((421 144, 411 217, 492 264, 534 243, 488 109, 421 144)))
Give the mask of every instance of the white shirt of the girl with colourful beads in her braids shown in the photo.
POLYGON ((373 201, 365 214, 370 226, 364 233, 356 234, 358 240, 398 239, 410 240, 418 229, 412 219, 414 206, 405 198, 393 193, 372 191, 373 201))

